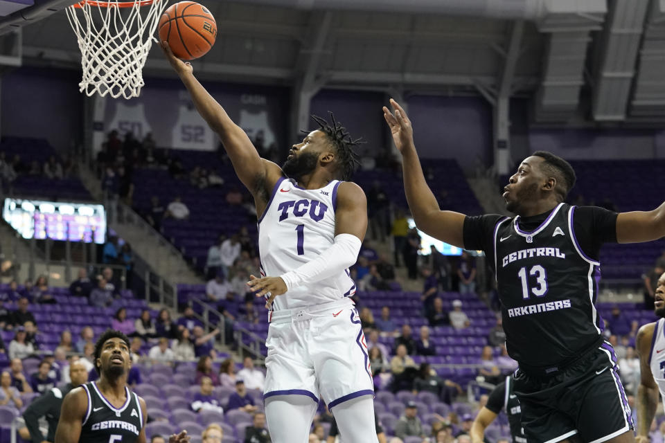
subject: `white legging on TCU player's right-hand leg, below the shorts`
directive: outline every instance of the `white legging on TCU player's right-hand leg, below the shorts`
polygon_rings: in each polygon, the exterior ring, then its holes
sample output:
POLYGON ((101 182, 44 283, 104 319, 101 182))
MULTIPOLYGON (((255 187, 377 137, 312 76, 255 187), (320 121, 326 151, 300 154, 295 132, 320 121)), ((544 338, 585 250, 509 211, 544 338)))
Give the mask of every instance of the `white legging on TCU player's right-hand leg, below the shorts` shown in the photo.
POLYGON ((331 409, 344 443, 378 443, 374 426, 374 399, 364 395, 331 409))

